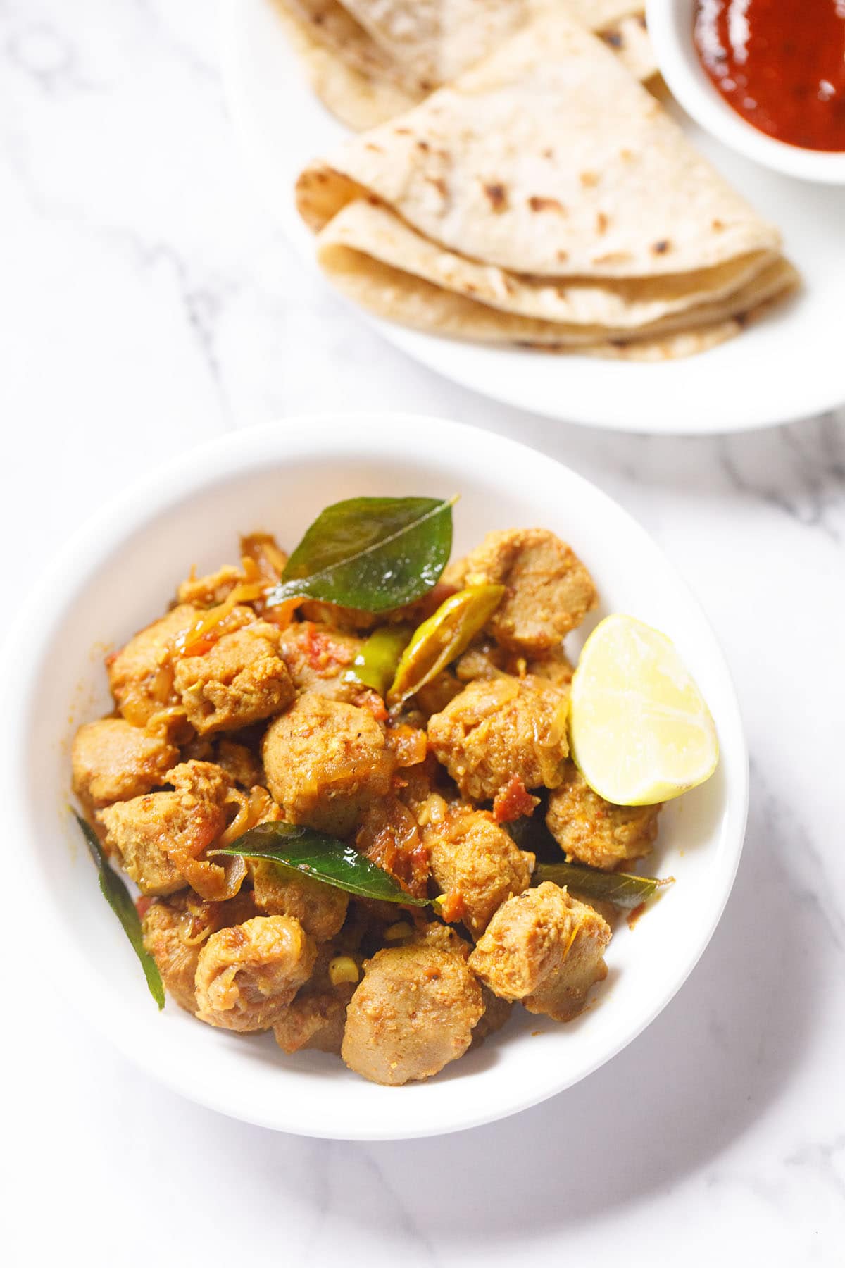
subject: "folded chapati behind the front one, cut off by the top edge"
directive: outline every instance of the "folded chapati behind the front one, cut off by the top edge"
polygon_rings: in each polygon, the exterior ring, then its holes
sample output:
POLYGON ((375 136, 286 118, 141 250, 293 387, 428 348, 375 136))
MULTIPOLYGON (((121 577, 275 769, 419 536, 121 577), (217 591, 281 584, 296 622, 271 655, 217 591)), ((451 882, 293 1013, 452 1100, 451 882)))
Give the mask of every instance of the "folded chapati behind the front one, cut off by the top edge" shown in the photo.
POLYGON ((277 0, 324 104, 369 128, 422 101, 546 9, 600 34, 639 79, 655 71, 642 0, 277 0))

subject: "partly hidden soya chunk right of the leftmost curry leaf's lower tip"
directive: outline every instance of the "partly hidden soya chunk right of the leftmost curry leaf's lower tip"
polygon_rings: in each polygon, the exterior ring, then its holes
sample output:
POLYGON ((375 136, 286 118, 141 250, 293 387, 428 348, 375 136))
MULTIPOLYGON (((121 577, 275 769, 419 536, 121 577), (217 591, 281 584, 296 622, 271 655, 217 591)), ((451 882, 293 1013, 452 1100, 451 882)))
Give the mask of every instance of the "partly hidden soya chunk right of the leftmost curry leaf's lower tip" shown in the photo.
POLYGON ((194 976, 209 933, 256 915, 252 895, 238 894, 229 903, 204 903, 196 894, 155 898, 141 922, 143 945, 158 966, 170 995, 180 1008, 196 1012, 194 976))

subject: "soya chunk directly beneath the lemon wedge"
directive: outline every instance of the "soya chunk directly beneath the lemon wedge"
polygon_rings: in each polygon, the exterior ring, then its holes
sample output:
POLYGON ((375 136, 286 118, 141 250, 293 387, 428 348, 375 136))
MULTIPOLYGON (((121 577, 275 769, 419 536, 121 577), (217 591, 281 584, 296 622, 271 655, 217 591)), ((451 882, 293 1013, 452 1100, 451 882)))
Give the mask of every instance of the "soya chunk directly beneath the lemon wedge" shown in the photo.
POLYGON ((549 798, 546 827, 569 860, 612 871, 651 853, 659 805, 613 805, 593 792, 569 763, 562 784, 549 798))

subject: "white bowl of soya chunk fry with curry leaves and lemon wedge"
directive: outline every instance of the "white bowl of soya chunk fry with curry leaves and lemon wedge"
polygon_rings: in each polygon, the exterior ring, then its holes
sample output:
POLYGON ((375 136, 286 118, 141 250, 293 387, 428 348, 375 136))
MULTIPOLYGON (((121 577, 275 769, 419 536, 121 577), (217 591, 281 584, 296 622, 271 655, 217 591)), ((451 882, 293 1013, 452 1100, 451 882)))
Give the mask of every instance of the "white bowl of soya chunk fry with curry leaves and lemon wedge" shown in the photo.
POLYGON ((562 1092, 734 881, 747 754, 706 618, 500 436, 332 415, 181 455, 63 548, 9 656, 39 981, 247 1122, 403 1139, 562 1092))

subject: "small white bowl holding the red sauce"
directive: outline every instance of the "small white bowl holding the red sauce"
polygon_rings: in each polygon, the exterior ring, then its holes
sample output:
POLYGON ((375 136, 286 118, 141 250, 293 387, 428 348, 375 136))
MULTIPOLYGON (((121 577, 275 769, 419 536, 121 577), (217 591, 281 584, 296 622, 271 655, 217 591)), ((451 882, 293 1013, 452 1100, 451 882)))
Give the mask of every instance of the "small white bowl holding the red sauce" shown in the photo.
POLYGON ((845 184, 845 153, 803 150, 758 131, 720 95, 693 41, 696 0, 647 0, 646 20, 660 74, 675 100, 707 132, 773 171, 826 185, 845 184))

